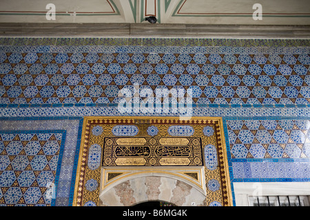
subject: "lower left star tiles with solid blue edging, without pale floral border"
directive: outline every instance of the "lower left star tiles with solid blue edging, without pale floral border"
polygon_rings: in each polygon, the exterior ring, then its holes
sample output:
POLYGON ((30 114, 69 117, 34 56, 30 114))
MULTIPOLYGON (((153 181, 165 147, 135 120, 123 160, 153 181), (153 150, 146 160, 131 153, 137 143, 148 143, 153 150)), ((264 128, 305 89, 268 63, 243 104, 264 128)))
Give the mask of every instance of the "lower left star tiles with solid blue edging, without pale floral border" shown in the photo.
POLYGON ((0 205, 55 203, 65 131, 0 131, 0 205))

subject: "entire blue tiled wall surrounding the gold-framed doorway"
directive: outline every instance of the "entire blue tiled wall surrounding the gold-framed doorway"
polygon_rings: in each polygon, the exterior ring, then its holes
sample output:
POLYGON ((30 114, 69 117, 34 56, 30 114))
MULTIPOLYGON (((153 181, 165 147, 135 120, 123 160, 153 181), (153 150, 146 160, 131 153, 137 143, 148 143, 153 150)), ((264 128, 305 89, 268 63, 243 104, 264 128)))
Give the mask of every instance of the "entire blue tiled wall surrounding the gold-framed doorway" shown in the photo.
POLYGON ((121 113, 118 92, 137 85, 170 91, 172 100, 191 90, 193 116, 223 117, 231 182, 309 181, 309 46, 304 39, 0 38, 0 204, 34 204, 31 190, 36 203, 72 203, 84 116, 183 114, 121 113), (36 158, 48 170, 36 170, 36 158), (59 189, 54 197, 40 182, 43 171, 59 189), (27 173, 31 183, 22 180, 27 173), (13 192, 20 197, 7 199, 13 192))

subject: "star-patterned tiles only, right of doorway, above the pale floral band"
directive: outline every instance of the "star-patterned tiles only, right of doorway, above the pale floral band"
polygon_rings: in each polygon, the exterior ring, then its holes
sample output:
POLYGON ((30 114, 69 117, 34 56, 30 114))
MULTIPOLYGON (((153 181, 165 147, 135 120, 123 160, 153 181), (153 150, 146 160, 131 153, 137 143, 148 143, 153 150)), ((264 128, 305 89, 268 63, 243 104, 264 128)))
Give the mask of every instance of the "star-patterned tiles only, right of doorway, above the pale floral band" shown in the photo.
POLYGON ((309 158, 310 120, 227 120, 231 158, 309 158))

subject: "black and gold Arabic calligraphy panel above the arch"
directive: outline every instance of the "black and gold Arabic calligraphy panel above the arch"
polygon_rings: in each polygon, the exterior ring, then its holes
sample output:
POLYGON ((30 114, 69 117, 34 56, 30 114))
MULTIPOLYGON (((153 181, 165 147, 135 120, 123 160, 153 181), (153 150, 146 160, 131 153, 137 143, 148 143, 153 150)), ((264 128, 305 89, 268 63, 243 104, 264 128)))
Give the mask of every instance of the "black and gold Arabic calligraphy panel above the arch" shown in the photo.
POLYGON ((102 165, 203 166, 201 149, 200 137, 104 137, 102 165))

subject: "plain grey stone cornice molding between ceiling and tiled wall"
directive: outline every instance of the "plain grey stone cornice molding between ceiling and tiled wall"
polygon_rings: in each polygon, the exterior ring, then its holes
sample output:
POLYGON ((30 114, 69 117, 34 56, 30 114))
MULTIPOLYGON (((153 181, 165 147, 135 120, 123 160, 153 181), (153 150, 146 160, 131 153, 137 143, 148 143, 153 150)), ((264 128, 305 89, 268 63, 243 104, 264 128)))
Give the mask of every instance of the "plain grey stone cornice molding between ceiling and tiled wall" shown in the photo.
POLYGON ((0 23, 0 36, 310 39, 310 25, 0 23))

